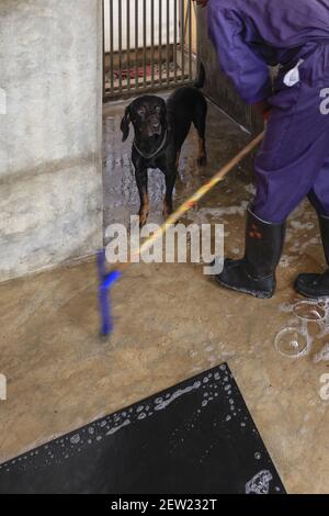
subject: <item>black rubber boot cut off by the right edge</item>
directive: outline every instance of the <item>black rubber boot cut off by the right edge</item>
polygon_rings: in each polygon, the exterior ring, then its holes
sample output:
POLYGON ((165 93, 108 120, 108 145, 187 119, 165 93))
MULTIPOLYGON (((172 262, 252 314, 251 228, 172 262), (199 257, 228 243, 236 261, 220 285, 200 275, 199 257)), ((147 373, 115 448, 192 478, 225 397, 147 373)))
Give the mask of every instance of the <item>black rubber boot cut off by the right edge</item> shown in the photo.
MULTIPOLYGON (((329 217, 318 216, 325 256, 329 265, 329 217)), ((329 269, 322 274, 299 274, 295 281, 295 289, 305 298, 329 298, 329 269)))

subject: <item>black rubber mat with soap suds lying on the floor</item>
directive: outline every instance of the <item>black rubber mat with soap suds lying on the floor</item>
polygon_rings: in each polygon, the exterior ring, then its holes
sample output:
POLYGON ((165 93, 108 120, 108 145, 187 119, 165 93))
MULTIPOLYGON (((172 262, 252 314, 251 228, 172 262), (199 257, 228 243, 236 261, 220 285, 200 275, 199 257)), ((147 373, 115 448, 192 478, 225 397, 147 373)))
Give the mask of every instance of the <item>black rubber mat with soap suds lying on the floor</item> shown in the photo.
POLYGON ((0 493, 284 493, 227 364, 0 467, 0 493))

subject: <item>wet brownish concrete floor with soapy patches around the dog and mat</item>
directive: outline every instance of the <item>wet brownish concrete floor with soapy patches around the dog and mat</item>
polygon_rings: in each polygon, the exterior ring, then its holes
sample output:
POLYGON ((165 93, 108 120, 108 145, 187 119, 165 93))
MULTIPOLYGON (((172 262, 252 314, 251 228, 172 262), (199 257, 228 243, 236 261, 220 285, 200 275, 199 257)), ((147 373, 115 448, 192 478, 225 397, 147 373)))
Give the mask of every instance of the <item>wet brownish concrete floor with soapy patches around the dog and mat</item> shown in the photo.
MULTIPOLYGON (((106 224, 136 213, 129 146, 120 143, 117 131, 124 106, 104 110, 106 224)), ((192 131, 175 204, 248 141, 217 109, 209 111, 209 162, 202 170, 195 167, 192 131)), ((151 184, 156 193, 150 220, 160 218, 160 176, 155 172, 151 184)), ((252 192, 245 165, 186 222, 225 223, 226 253, 239 256, 252 192)), ((277 292, 269 301, 220 289, 197 265, 134 265, 113 289, 115 333, 104 341, 98 336, 93 262, 2 284, 0 372, 9 384, 8 401, 0 402, 0 462, 227 361, 287 491, 328 493, 329 402, 319 390, 329 362, 314 363, 326 337, 297 360, 281 356, 273 345, 298 299, 294 277, 321 268, 316 217, 305 203, 291 217, 277 292)))

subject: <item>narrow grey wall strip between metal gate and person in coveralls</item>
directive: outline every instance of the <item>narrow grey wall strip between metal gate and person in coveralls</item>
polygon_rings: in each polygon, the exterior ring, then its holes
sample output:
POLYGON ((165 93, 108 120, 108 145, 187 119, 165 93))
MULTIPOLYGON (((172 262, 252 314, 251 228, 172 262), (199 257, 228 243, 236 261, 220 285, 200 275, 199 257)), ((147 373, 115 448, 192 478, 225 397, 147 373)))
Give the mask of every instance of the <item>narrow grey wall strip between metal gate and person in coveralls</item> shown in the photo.
POLYGON ((218 57, 208 38, 206 9, 197 9, 197 40, 198 59, 206 70, 205 93, 239 124, 252 133, 259 133, 263 127, 261 117, 239 98, 229 79, 220 71, 218 57))

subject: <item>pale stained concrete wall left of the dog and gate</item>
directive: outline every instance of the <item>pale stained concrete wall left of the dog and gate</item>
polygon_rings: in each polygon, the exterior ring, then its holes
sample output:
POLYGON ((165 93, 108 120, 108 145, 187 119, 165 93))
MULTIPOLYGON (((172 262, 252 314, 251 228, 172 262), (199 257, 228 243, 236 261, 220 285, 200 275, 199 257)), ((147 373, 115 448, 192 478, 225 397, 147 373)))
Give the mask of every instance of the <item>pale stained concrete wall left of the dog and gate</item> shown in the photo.
POLYGON ((0 281, 102 245, 102 2, 0 1, 0 281))

